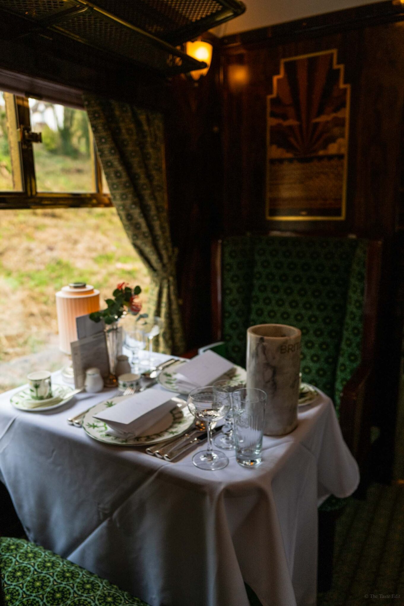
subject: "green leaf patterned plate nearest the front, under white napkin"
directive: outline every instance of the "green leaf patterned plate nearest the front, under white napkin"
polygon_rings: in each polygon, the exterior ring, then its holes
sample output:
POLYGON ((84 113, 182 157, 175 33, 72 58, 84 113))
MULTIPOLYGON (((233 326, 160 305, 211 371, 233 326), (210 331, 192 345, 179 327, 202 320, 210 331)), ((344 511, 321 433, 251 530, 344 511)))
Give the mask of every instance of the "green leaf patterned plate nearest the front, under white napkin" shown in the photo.
POLYGON ((119 438, 117 436, 109 436, 106 432, 108 431, 108 425, 100 421, 100 419, 94 419, 94 415, 105 410, 110 406, 114 406, 117 402, 122 402, 122 397, 111 398, 106 402, 97 404, 91 410, 86 413, 83 419, 84 431, 99 442, 105 442, 105 444, 114 444, 116 446, 146 446, 149 444, 157 444, 157 442, 163 442, 175 436, 180 436, 181 433, 185 433, 195 421, 194 415, 191 415, 188 408, 185 407, 182 410, 180 408, 173 408, 168 415, 165 415, 163 419, 158 421, 152 427, 146 431, 142 436, 119 438))

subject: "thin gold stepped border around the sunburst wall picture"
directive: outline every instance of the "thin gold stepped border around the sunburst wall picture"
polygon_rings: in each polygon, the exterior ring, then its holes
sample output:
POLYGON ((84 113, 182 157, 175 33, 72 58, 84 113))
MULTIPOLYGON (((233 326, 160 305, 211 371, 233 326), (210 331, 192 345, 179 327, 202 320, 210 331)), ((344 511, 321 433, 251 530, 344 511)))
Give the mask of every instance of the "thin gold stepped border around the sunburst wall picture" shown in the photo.
POLYGON ((281 59, 281 68, 276 76, 272 79, 272 94, 267 95, 267 153, 266 153, 266 219, 267 221, 345 221, 347 215, 347 177, 348 177, 348 148, 349 148, 349 132, 350 132, 350 109, 351 109, 351 85, 344 82, 345 77, 345 65, 337 62, 337 48, 330 48, 330 50, 321 50, 316 53, 307 53, 306 55, 296 55, 293 57, 287 57, 281 59), (270 215, 270 199, 269 199, 269 161, 270 161, 270 105, 271 99, 278 95, 278 80, 285 76, 285 63, 288 61, 297 61, 298 59, 307 59, 319 55, 333 55, 333 69, 339 70, 339 87, 345 88, 347 91, 347 115, 345 118, 345 139, 347 141, 347 147, 345 151, 344 159, 344 175, 342 179, 342 200, 341 200, 341 214, 339 216, 321 216, 321 215, 270 215))

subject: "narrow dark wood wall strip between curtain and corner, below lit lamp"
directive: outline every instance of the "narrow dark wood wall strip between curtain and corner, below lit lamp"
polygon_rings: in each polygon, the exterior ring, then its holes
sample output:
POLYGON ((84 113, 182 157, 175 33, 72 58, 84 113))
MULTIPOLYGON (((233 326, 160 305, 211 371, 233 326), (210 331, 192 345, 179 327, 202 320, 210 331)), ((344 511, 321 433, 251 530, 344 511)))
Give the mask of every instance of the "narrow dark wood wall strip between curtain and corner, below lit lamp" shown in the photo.
POLYGON ((223 224, 219 62, 214 52, 197 85, 175 78, 165 113, 169 218, 187 348, 210 340, 210 243, 223 224))

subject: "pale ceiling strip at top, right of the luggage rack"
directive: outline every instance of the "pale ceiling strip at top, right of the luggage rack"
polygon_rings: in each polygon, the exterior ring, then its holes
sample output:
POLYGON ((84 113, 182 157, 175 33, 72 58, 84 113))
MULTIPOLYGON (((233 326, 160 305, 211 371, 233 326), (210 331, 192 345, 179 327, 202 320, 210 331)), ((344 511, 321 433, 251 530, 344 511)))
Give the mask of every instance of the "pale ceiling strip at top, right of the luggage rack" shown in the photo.
POLYGON ((232 19, 212 30, 217 36, 246 32, 257 27, 304 19, 321 13, 331 13, 343 8, 374 4, 378 0, 243 0, 247 10, 244 15, 232 19))

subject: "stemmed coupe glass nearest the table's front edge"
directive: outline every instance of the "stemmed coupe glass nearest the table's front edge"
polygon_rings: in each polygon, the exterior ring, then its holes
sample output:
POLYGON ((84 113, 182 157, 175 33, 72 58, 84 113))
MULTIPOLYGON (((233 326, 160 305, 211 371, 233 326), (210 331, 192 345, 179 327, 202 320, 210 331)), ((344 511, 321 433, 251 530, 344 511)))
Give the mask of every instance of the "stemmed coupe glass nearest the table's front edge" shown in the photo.
POLYGON ((223 469, 229 459, 220 450, 212 450, 212 428, 229 412, 229 394, 215 391, 212 385, 197 387, 188 396, 188 408, 198 421, 207 425, 207 449, 194 454, 192 462, 200 469, 223 469))

